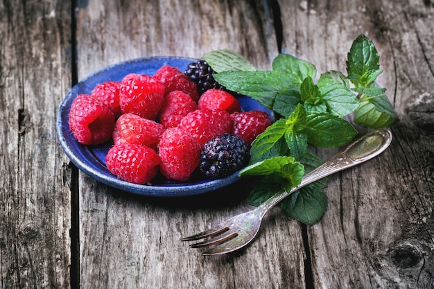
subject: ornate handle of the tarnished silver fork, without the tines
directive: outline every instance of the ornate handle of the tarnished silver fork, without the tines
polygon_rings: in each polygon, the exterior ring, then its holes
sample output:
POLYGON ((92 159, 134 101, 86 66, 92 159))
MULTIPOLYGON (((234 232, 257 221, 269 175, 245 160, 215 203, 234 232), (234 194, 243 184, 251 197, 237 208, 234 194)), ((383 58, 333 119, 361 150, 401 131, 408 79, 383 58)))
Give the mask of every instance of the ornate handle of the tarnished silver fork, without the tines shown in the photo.
POLYGON ((301 189, 303 186, 376 157, 388 148, 391 141, 392 132, 390 132, 388 128, 372 130, 372 132, 364 134, 362 137, 349 144, 347 148, 331 157, 331 159, 324 164, 318 166, 318 168, 315 168, 315 170, 312 170, 310 173, 306 173, 298 186, 293 187, 289 192, 281 189, 257 207, 257 210, 262 211, 262 216, 265 216, 268 210, 275 207, 281 200, 301 189))

